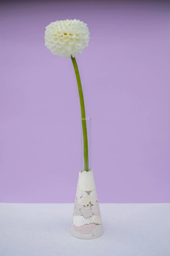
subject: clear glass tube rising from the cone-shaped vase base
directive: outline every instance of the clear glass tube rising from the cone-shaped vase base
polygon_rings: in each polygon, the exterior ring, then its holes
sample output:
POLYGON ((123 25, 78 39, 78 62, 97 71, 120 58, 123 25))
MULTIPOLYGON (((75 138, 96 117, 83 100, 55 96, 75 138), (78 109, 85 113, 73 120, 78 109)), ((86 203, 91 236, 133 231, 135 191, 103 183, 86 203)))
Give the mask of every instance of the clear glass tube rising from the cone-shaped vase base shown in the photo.
POLYGON ((91 170, 91 121, 92 118, 80 118, 81 166, 80 171, 91 170))

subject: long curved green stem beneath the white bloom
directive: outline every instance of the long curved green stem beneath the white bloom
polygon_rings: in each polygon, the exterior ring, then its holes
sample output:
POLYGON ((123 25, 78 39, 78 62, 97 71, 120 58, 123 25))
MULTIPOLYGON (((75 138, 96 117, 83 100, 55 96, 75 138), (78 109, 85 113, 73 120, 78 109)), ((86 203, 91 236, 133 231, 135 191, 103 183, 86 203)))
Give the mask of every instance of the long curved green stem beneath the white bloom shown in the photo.
POLYGON ((78 85, 78 93, 80 98, 80 107, 81 107, 81 118, 82 118, 82 129, 83 129, 83 145, 84 145, 84 170, 86 172, 89 171, 89 155, 88 155, 88 139, 87 139, 87 126, 86 126, 86 114, 84 107, 84 97, 81 86, 80 74, 78 71, 78 65, 76 59, 71 56, 71 60, 73 62, 74 71, 76 74, 77 85, 78 85))

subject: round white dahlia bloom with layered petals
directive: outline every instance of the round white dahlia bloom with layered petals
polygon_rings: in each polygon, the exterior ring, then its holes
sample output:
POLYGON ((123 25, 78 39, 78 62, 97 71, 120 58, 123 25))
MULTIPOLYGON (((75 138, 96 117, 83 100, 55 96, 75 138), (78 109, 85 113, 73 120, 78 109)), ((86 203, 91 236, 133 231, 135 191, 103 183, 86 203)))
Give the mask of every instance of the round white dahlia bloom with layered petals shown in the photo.
POLYGON ((46 27, 45 45, 59 57, 74 58, 88 46, 89 35, 87 24, 82 21, 55 21, 46 27))

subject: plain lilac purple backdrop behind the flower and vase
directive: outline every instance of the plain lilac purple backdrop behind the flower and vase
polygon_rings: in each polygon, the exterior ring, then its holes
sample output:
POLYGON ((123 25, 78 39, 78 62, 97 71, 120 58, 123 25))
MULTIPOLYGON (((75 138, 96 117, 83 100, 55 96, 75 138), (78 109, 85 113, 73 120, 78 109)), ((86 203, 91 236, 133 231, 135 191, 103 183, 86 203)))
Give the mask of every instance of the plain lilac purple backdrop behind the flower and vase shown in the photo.
POLYGON ((99 201, 170 202, 170 6, 13 2, 0 16, 0 201, 74 202, 78 89, 44 32, 76 18, 90 30, 77 62, 99 201))

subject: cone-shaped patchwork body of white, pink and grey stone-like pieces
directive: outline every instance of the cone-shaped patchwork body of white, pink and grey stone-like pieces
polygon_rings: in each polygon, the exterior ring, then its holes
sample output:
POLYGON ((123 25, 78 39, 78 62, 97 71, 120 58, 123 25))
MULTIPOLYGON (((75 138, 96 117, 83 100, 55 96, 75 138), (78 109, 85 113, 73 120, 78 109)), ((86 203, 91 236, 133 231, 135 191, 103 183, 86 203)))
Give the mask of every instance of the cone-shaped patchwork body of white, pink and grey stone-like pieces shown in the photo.
POLYGON ((103 234, 92 170, 79 172, 71 234, 82 239, 93 239, 103 234))

